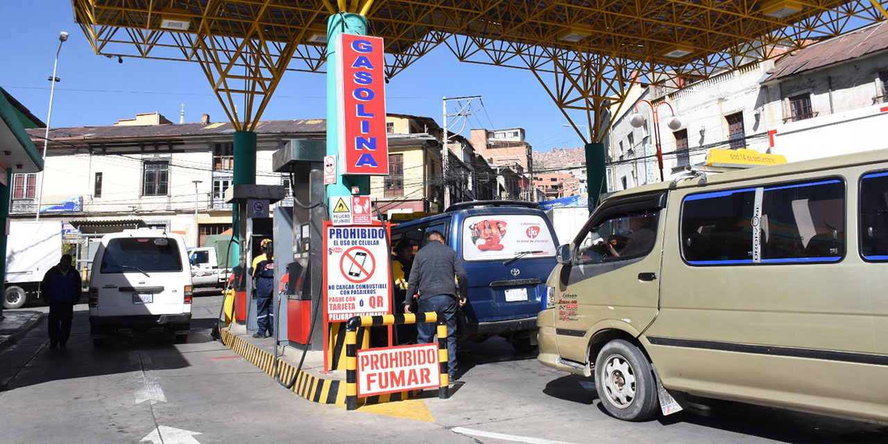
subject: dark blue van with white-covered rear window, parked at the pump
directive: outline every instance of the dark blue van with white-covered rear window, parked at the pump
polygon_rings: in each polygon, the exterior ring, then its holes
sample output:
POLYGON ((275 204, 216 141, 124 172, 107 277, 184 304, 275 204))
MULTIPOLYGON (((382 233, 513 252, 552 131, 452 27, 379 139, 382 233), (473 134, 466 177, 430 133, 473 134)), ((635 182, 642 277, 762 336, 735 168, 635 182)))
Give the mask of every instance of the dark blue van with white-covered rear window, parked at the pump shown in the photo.
POLYGON ((475 201, 436 216, 392 227, 392 245, 408 240, 420 249, 439 231, 463 260, 469 301, 457 313, 460 339, 502 336, 515 350, 536 345, 536 314, 545 281, 556 266, 555 230, 536 202, 475 201))

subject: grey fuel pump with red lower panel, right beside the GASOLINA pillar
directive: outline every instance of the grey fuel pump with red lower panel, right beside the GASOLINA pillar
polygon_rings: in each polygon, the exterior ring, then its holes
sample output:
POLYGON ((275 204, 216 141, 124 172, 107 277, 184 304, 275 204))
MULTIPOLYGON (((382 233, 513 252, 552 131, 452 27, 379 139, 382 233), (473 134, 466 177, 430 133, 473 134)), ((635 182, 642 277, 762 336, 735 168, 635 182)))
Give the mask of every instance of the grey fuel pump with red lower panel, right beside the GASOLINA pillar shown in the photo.
MULTIPOLYGON (((323 297, 321 274, 323 263, 324 199, 323 140, 291 139, 274 153, 274 170, 289 173, 293 196, 293 258, 288 264, 289 285, 286 292, 286 329, 280 329, 279 340, 300 349, 323 349, 323 297), (311 329, 312 323, 316 325, 311 329)), ((282 235, 279 233, 279 235, 282 235)))

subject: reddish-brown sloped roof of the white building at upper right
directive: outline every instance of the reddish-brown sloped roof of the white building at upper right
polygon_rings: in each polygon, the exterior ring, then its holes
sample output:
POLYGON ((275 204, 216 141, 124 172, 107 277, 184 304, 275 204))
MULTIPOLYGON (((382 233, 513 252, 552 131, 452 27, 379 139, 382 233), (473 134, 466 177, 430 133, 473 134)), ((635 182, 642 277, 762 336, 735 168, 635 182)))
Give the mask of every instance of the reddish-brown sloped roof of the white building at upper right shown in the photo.
POLYGON ((774 63, 767 80, 801 74, 885 49, 888 49, 888 22, 790 52, 774 63))

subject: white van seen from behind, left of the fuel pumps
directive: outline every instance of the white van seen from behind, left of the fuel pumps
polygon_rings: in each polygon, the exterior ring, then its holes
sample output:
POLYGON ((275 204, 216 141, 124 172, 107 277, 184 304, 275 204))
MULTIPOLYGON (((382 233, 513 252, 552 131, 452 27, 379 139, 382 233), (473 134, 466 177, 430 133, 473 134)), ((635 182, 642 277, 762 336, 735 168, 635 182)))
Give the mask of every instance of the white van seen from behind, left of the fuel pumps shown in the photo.
POLYGON ((117 329, 163 327, 184 342, 191 330, 191 269, 178 234, 125 230, 106 234, 92 263, 92 342, 117 329))

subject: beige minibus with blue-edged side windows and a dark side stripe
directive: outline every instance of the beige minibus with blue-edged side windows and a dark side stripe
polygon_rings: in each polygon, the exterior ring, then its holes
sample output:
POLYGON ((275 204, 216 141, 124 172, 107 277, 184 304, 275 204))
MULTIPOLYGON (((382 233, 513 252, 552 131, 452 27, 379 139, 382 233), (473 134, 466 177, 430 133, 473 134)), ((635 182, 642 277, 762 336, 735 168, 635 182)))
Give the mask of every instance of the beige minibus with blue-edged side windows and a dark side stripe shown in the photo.
POLYGON ((886 196, 888 150, 614 194, 559 247, 538 360, 625 420, 690 393, 888 422, 886 196))

